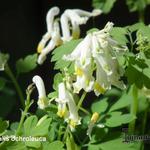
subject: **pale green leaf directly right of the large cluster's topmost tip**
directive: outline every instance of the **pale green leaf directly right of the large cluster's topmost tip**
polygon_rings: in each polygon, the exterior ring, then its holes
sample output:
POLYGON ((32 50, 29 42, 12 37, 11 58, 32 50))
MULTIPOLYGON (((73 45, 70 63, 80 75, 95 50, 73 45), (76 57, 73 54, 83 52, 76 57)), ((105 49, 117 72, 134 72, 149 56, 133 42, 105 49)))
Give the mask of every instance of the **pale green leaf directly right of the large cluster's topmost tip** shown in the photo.
POLYGON ((110 35, 113 37, 114 40, 116 40, 120 45, 126 45, 128 43, 128 39, 126 37, 127 35, 127 29, 121 28, 121 27, 114 27, 111 30, 110 35))

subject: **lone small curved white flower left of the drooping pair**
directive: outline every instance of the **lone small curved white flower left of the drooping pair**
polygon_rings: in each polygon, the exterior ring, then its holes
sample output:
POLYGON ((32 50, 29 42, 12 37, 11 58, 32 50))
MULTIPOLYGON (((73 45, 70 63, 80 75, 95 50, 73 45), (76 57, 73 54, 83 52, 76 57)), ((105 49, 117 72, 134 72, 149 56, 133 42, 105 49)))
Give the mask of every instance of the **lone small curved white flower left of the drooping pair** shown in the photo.
POLYGON ((38 97, 38 106, 40 109, 45 109, 48 106, 48 99, 46 97, 45 86, 42 78, 38 75, 32 78, 33 83, 36 85, 39 97, 38 97))

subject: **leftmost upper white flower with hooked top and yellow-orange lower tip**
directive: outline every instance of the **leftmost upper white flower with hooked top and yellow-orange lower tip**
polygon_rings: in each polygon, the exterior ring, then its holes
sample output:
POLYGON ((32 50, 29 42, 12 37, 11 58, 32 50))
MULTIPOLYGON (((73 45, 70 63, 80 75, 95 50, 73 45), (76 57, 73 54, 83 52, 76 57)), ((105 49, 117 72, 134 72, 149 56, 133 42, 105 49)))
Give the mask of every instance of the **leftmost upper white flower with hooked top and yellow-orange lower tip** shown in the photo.
POLYGON ((38 53, 41 53, 44 49, 46 43, 48 40, 50 40, 52 33, 54 31, 54 17, 59 14, 59 8, 58 7, 52 7, 46 16, 46 23, 47 23, 47 32, 44 34, 42 40, 38 44, 37 51, 38 53))

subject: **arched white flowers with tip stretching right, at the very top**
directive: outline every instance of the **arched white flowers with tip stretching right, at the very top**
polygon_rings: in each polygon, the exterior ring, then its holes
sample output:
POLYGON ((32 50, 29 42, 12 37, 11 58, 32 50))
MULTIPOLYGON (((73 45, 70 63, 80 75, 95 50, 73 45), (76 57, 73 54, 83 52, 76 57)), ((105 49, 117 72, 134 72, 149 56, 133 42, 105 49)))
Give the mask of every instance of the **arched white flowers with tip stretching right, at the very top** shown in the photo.
POLYGON ((67 9, 61 16, 61 28, 63 34, 63 41, 69 41, 72 38, 79 38, 80 28, 79 25, 85 24, 90 17, 98 16, 101 14, 100 10, 94 10, 93 12, 87 12, 80 9, 67 9), (71 22, 72 35, 70 31, 71 22))

